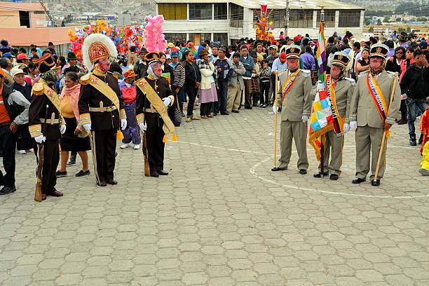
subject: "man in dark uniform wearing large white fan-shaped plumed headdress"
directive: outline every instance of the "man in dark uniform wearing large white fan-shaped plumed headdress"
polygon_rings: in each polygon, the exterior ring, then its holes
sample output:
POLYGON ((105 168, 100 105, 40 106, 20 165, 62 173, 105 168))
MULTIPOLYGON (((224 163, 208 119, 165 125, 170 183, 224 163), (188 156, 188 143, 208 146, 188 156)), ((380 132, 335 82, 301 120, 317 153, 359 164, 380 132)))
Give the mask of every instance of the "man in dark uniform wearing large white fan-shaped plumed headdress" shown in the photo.
MULTIPOLYGON (((118 55, 113 41, 90 34, 83 41, 83 64, 92 72, 81 77, 80 122, 93 139, 98 186, 118 184, 114 179, 116 133, 127 127, 118 80, 109 72, 110 58, 118 55)), ((90 139, 91 139, 90 137, 90 139)))

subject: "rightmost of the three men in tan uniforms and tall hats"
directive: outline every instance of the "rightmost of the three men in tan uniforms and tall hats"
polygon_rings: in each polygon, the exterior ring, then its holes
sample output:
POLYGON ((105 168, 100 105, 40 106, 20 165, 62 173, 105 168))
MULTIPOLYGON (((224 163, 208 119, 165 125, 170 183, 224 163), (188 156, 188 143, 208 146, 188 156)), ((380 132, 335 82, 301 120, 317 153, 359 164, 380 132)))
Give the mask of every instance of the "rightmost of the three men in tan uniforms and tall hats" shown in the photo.
POLYGON ((359 74, 350 105, 350 130, 356 130, 356 177, 353 184, 365 182, 371 159, 372 186, 379 186, 385 171, 386 144, 381 154, 378 177, 374 177, 383 132, 386 137, 395 120, 400 118, 401 88, 393 83, 397 75, 384 69, 388 46, 375 43, 369 54, 369 71, 359 74), (390 97, 393 97, 390 104, 390 97), (390 105, 389 105, 390 104, 390 105), (371 156, 372 151, 372 157, 371 156))

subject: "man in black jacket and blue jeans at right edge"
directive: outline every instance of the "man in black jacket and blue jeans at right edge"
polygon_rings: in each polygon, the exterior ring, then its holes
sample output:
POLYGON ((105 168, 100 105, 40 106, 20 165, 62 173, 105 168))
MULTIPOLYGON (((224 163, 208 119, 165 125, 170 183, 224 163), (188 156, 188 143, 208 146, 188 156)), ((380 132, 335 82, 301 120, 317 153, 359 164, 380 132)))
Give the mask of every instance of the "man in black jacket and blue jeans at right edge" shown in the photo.
MULTIPOLYGON (((409 144, 416 146, 416 132, 414 121, 416 121, 416 109, 421 112, 426 109, 426 100, 429 93, 429 64, 423 50, 414 51, 416 62, 405 71, 400 86, 404 95, 408 111, 409 144)), ((420 142, 420 140, 419 140, 420 142)))

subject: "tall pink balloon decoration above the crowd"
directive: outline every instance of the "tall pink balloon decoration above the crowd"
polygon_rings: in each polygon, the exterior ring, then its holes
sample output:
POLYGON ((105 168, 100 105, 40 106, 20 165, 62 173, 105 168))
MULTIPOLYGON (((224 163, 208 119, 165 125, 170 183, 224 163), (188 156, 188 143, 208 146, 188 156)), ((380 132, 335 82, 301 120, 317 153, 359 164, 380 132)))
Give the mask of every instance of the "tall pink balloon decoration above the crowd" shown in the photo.
POLYGON ((167 46, 165 36, 163 34, 163 15, 156 15, 155 17, 146 16, 147 25, 144 28, 143 44, 144 48, 151 52, 164 52, 167 46))

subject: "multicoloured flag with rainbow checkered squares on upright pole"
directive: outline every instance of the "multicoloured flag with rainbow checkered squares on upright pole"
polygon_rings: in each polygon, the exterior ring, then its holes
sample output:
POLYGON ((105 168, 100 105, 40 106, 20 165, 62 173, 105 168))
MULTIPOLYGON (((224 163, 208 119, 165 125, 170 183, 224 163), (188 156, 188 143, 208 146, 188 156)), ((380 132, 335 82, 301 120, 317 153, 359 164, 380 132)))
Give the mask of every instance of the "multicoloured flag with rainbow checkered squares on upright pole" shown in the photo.
MULTIPOLYGON (((318 40, 317 56, 319 81, 325 84, 326 72, 323 65, 326 62, 326 51, 322 22, 320 22, 318 40)), ((334 118, 332 116, 331 102, 329 101, 329 96, 325 88, 325 90, 316 93, 310 117, 310 135, 308 142, 313 146, 318 161, 320 161, 322 156, 322 147, 325 146, 325 136, 323 135, 334 128, 333 122, 334 118)), ((325 148, 323 148, 323 153, 325 153, 325 148)))

